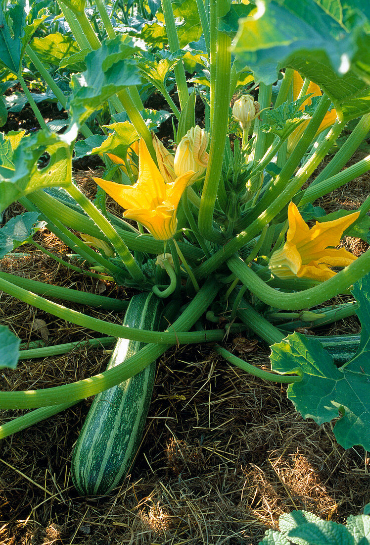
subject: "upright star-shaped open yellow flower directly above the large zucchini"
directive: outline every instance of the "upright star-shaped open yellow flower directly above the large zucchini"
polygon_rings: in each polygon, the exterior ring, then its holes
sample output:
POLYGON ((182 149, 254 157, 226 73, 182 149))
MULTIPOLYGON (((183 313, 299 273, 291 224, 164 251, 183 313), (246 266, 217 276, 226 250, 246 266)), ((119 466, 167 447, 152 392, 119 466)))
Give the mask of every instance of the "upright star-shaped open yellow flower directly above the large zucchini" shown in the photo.
POLYGON ((166 184, 150 156, 144 140, 139 142, 139 177, 134 185, 94 178, 104 191, 126 208, 124 217, 139 221, 157 240, 168 240, 176 232, 176 212, 182 193, 194 175, 189 171, 166 184))

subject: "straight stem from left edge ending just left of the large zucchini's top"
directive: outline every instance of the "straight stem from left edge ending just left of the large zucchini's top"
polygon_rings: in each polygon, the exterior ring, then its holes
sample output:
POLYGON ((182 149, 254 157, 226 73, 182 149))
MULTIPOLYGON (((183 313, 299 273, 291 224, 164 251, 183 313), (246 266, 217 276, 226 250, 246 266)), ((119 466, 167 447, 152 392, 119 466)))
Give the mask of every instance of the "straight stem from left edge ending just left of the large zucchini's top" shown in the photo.
POLYGON ((39 282, 38 280, 29 280, 29 278, 15 276, 13 274, 8 274, 8 272, 0 272, 0 278, 11 282, 14 284, 14 286, 20 286, 21 288, 27 289, 38 295, 46 295, 47 297, 75 302, 79 303, 80 305, 89 305, 116 312, 126 310, 128 306, 128 301, 121 301, 119 299, 104 297, 103 295, 81 292, 78 289, 53 286, 53 284, 45 284, 44 282, 39 282))

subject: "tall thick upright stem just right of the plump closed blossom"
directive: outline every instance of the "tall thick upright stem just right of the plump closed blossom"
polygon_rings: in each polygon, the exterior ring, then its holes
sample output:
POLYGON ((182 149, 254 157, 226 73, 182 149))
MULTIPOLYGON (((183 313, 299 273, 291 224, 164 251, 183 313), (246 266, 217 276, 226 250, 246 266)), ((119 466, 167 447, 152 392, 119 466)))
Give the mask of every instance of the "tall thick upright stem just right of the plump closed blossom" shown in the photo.
POLYGON ((213 228, 213 210, 223 165, 227 122, 229 120, 231 38, 218 31, 217 44, 211 149, 209 150, 206 178, 200 201, 198 225, 200 234, 205 239, 221 243, 223 236, 213 228))

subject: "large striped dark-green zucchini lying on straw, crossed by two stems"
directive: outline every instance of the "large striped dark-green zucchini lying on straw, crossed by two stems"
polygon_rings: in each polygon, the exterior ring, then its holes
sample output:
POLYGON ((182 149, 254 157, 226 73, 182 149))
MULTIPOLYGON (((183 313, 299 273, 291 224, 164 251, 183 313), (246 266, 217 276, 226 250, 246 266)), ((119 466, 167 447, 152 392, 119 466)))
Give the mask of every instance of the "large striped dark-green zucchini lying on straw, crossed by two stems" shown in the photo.
MULTIPOLYGON (((162 301, 155 294, 134 295, 124 325, 157 330, 162 310, 162 301)), ((144 344, 118 339, 107 368, 120 364, 144 344)), ((140 373, 95 396, 72 456, 72 481, 81 494, 107 494, 126 476, 143 435, 155 374, 153 361, 140 373)))

